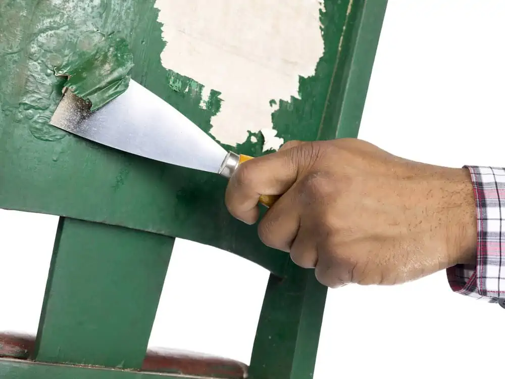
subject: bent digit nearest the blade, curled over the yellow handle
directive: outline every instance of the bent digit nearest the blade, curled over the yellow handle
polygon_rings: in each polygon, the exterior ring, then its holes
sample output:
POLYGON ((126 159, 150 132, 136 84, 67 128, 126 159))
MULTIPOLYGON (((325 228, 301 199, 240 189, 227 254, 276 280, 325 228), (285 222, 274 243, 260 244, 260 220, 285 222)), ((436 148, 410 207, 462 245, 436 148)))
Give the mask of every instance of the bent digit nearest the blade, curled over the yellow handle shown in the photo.
POLYGON ((248 224, 259 217, 258 202, 261 195, 282 195, 296 181, 300 149, 304 143, 288 141, 279 151, 251 159, 240 164, 226 188, 225 203, 228 211, 248 224))

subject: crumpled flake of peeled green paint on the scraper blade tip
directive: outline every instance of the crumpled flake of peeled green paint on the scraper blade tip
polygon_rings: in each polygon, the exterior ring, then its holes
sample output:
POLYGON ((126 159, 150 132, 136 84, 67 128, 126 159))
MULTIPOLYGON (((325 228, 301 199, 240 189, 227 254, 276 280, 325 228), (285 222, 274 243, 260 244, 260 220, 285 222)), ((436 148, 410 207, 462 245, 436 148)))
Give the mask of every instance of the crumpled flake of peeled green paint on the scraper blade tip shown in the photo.
POLYGON ((91 103, 91 111, 103 107, 126 91, 133 55, 128 41, 115 33, 89 31, 76 42, 75 51, 55 67, 56 76, 67 76, 65 87, 91 103))

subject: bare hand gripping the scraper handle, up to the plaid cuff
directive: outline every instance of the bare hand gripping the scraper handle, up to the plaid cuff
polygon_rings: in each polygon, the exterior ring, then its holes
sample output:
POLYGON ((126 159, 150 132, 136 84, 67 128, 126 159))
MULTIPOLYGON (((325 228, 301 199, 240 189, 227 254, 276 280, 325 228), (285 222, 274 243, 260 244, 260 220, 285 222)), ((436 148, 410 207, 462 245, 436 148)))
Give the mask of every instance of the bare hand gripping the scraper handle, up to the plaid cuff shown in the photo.
POLYGON ((354 138, 290 141, 239 166, 226 206, 252 224, 262 194, 281 195, 259 223, 263 243, 315 267, 328 287, 392 285, 476 261, 465 168, 413 162, 354 138))

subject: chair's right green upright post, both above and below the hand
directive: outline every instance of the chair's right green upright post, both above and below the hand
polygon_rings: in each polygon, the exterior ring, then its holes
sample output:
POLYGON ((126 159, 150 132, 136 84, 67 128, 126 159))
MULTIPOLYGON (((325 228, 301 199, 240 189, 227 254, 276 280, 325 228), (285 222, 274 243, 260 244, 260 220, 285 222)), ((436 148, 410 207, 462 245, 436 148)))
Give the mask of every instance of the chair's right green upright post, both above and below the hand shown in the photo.
MULTIPOLYGON (((358 136, 386 6, 387 0, 352 3, 318 139, 358 136)), ((288 263, 284 279, 270 276, 250 379, 313 377, 328 289, 317 282, 314 270, 293 266, 288 263)))

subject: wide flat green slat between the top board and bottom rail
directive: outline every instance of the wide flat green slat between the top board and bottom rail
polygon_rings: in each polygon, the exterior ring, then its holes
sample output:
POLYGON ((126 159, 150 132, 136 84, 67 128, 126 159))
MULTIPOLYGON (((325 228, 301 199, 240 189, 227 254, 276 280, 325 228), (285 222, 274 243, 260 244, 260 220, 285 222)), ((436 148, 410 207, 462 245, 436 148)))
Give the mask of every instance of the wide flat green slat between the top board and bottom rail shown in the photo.
POLYGON ((60 218, 32 358, 140 368, 174 241, 60 218))

